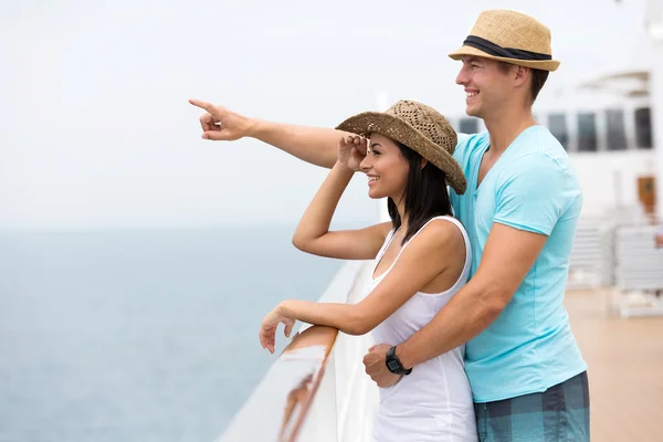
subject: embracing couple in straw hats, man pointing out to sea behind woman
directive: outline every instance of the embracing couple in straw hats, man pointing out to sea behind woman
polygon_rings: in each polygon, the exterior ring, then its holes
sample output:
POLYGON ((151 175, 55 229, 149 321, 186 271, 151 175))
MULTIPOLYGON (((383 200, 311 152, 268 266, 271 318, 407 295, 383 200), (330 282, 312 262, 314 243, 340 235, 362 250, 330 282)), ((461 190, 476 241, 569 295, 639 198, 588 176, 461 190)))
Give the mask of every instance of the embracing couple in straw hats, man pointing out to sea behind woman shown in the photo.
POLYGON ((568 155, 532 106, 549 72, 550 32, 529 15, 480 14, 456 83, 486 131, 456 134, 413 101, 351 116, 336 129, 252 119, 192 99, 203 138, 254 137, 330 169, 293 236, 298 249, 375 260, 359 303, 284 301, 262 323, 295 320, 378 345, 364 357, 380 387, 373 439, 589 441, 587 365, 564 308, 582 194, 568 155), (355 173, 390 221, 329 231, 355 173))

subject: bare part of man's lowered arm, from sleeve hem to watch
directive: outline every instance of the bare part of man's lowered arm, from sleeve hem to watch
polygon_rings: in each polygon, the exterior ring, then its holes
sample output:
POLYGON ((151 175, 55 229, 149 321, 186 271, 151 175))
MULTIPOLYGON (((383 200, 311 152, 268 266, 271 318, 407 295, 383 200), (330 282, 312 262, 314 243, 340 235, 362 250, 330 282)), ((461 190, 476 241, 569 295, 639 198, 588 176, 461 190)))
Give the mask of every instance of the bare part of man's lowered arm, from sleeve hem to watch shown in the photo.
POLYGON ((493 224, 476 274, 427 326, 396 347, 403 367, 442 355, 486 329, 516 293, 547 238, 493 224))

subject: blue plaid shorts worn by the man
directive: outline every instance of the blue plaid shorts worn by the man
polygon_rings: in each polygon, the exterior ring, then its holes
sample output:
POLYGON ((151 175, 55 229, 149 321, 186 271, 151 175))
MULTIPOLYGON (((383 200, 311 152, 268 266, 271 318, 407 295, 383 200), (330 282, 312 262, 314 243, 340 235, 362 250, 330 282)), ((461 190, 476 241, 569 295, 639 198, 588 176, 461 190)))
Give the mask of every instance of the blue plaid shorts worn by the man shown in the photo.
POLYGON ((475 403, 481 442, 589 441, 587 371, 541 393, 475 403))

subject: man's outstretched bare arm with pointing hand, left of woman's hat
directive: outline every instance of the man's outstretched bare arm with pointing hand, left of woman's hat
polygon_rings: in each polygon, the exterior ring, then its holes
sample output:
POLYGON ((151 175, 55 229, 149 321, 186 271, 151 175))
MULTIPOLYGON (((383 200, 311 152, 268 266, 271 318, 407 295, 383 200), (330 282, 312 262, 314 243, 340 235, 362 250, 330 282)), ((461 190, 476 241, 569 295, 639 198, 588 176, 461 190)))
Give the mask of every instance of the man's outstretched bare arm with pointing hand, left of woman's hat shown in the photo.
POLYGON ((200 117, 204 139, 233 141, 252 137, 301 160, 327 169, 332 169, 336 164, 338 140, 344 136, 354 135, 325 127, 250 118, 225 107, 198 99, 189 99, 189 103, 207 110, 200 117))

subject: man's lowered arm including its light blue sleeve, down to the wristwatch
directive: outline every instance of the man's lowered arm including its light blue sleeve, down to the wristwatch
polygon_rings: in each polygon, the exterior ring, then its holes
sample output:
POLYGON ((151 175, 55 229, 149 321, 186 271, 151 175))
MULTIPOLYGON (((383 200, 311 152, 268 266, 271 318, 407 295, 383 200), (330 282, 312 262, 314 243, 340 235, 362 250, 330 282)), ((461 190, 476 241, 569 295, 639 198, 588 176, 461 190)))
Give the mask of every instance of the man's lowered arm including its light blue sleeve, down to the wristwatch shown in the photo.
POLYGON ((476 274, 427 327, 397 347, 401 362, 412 367, 486 329, 511 302, 578 192, 567 170, 547 155, 519 158, 497 190, 495 219, 476 274))

